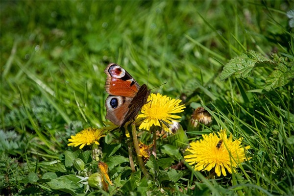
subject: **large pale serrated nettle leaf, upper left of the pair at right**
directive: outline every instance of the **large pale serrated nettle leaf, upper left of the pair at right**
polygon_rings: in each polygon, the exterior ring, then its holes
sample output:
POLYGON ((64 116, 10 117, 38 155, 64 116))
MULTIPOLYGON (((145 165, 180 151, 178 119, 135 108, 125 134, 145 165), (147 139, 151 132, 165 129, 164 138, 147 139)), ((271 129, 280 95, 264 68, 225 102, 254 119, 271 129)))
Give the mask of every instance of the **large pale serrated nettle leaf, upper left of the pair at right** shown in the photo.
POLYGON ((273 67, 276 64, 270 58, 253 50, 232 58, 223 68, 220 79, 224 80, 235 74, 236 77, 248 77, 255 67, 273 67))

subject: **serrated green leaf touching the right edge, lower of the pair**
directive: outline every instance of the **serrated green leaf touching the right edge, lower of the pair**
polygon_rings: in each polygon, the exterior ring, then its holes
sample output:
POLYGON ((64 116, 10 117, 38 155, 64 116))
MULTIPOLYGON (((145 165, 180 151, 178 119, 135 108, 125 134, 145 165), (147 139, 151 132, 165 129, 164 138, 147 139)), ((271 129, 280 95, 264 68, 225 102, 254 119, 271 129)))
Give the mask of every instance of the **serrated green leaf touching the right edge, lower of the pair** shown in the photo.
POLYGON ((281 70, 274 70, 266 79, 264 89, 270 91, 271 88, 285 86, 291 78, 294 78, 294 71, 282 72, 281 70))

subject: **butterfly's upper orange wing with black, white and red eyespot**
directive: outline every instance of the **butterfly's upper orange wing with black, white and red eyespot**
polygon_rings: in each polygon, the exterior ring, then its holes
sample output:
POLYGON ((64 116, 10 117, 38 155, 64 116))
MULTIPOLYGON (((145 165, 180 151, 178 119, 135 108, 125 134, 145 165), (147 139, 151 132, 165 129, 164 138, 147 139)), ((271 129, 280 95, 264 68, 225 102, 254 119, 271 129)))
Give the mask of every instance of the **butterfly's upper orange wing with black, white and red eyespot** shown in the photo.
POLYGON ((140 89, 138 82, 121 66, 110 63, 105 68, 105 89, 109 95, 133 98, 140 89))

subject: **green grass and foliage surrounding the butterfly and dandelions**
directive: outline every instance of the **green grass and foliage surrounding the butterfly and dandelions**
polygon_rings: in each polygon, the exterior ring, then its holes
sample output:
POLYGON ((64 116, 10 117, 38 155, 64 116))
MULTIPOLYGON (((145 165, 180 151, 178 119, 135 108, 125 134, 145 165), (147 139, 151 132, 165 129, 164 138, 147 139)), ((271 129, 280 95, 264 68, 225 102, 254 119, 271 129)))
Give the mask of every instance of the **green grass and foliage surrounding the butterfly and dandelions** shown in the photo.
MULTIPOLYGON (((83 128, 105 126, 108 62, 152 93, 182 98, 189 141, 226 128, 252 157, 236 173, 207 178, 188 164, 171 169, 188 144, 161 138, 148 180, 137 166, 131 172, 126 138, 111 132, 99 141, 110 195, 293 195, 290 9, 291 1, 1 1, 0 195, 85 192, 70 159, 93 173, 97 163, 90 149, 67 144, 83 128), (201 105, 213 122, 195 130, 189 122, 201 105)), ((149 132, 141 140, 152 143, 149 132)))

